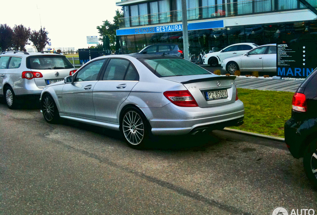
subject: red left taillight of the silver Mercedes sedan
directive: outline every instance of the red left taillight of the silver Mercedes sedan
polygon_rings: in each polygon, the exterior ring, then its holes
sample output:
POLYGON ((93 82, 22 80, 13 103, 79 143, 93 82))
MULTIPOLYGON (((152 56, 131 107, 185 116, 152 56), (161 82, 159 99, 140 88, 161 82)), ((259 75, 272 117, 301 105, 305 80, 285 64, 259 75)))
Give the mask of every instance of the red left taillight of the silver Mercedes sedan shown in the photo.
POLYGON ((163 95, 174 105, 179 107, 198 107, 189 91, 166 91, 163 95))

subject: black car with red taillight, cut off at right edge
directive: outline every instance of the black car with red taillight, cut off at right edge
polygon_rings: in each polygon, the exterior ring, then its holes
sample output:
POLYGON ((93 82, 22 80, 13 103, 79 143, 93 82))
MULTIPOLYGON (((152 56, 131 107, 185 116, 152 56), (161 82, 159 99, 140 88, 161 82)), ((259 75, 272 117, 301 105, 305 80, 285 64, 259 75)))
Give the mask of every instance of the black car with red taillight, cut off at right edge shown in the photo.
POLYGON ((306 174, 317 187, 317 69, 297 89, 292 106, 285 142, 293 157, 304 158, 306 174))

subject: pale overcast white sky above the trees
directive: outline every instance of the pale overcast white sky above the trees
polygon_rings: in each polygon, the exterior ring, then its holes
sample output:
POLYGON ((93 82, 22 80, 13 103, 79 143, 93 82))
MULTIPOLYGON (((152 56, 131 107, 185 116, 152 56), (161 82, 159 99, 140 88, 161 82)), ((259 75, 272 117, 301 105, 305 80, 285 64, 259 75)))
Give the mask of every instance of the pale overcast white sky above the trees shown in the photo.
POLYGON ((52 47, 87 48, 86 36, 99 36, 97 26, 113 16, 120 0, 1 0, 0 24, 23 24, 49 32, 52 47), (41 20, 41 21, 40 21, 41 20))

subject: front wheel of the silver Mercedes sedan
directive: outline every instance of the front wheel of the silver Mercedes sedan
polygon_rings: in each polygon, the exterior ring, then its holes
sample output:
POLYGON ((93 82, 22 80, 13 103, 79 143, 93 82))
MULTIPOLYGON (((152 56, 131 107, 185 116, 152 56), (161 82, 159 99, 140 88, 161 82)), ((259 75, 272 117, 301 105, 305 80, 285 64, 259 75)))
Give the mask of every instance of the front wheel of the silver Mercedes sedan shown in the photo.
POLYGON ((50 124, 56 124, 59 121, 59 112, 54 99, 49 94, 44 94, 41 99, 41 109, 44 119, 50 124))

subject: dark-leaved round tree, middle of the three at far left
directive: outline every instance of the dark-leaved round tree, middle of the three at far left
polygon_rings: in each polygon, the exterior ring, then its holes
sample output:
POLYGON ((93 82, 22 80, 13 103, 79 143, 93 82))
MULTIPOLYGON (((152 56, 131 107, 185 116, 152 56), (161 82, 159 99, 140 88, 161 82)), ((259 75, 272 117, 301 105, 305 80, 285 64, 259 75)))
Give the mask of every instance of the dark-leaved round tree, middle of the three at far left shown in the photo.
POLYGON ((22 24, 14 25, 13 27, 13 48, 15 50, 23 51, 29 37, 31 35, 31 29, 24 27, 22 24))

